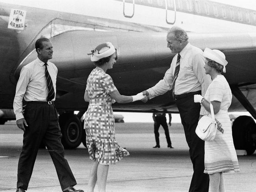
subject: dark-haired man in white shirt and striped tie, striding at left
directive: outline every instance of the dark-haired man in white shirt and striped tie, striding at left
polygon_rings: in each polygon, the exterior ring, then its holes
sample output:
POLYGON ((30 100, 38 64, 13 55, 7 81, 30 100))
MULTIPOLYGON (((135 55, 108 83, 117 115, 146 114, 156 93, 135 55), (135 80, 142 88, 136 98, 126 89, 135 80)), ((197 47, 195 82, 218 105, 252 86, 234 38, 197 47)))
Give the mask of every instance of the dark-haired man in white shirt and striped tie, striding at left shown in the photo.
POLYGON ((37 59, 21 69, 13 102, 17 126, 24 131, 16 192, 25 192, 28 189, 42 141, 50 153, 63 192, 83 192, 73 188, 76 179, 64 158, 61 144, 62 135, 54 106, 58 69, 48 61, 52 59, 52 43, 47 38, 37 39, 35 50, 37 59), (24 111, 23 99, 26 102, 24 111))

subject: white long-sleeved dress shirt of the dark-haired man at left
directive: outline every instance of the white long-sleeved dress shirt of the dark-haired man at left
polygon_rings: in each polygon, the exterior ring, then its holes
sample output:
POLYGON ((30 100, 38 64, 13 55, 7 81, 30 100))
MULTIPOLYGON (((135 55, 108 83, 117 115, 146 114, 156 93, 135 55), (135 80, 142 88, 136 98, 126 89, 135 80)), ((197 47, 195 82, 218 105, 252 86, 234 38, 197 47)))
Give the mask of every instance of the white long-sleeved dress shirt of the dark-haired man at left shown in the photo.
MULTIPOLYGON (((47 62, 47 69, 52 79, 54 92, 56 94, 56 78, 58 69, 51 63, 47 62)), ((25 101, 42 101, 46 102, 48 96, 48 87, 45 76, 45 63, 39 58, 35 59, 28 65, 22 67, 20 78, 16 86, 16 94, 13 102, 13 110, 16 120, 24 118, 22 114, 22 99, 25 101)), ((52 101, 55 100, 54 99, 52 101)))

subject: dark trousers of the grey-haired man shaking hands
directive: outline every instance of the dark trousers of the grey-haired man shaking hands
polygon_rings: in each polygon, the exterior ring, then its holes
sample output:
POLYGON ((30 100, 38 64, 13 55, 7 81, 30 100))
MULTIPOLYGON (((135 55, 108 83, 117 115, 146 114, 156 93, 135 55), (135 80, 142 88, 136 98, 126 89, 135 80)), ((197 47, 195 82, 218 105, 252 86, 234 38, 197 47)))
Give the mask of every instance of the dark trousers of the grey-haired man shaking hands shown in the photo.
MULTIPOLYGON (((195 92, 195 94, 201 94, 201 92, 195 92)), ((208 192, 209 175, 204 174, 204 141, 195 133, 200 103, 194 103, 194 94, 190 94, 186 98, 176 100, 176 104, 180 112, 194 170, 189 192, 208 192)))

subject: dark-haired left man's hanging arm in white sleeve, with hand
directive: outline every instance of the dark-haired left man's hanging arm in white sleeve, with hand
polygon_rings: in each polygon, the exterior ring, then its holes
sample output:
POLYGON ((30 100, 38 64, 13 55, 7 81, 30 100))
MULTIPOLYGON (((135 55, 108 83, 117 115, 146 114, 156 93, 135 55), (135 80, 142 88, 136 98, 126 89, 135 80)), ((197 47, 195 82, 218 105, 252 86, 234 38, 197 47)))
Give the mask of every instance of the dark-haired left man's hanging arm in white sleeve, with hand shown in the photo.
POLYGON ((16 124, 19 127, 19 129, 22 129, 22 130, 25 130, 24 124, 25 126, 28 126, 22 114, 22 99, 24 98, 24 94, 26 92, 29 79, 30 79, 29 70, 28 68, 23 67, 20 71, 20 78, 16 86, 16 93, 13 101, 13 111, 16 116, 16 124))

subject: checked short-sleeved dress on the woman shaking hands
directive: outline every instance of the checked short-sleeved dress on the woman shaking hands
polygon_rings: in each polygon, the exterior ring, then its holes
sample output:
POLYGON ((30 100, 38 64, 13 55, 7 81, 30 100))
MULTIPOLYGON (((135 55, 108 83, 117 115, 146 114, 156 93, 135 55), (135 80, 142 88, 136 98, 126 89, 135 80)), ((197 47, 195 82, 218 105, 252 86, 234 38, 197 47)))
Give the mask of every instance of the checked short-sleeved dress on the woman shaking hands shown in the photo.
POLYGON ((115 140, 115 119, 112 110, 113 98, 109 93, 117 90, 112 78, 96 67, 87 79, 85 91, 89 95, 89 107, 85 112, 84 129, 91 160, 99 164, 116 164, 130 155, 115 140))

